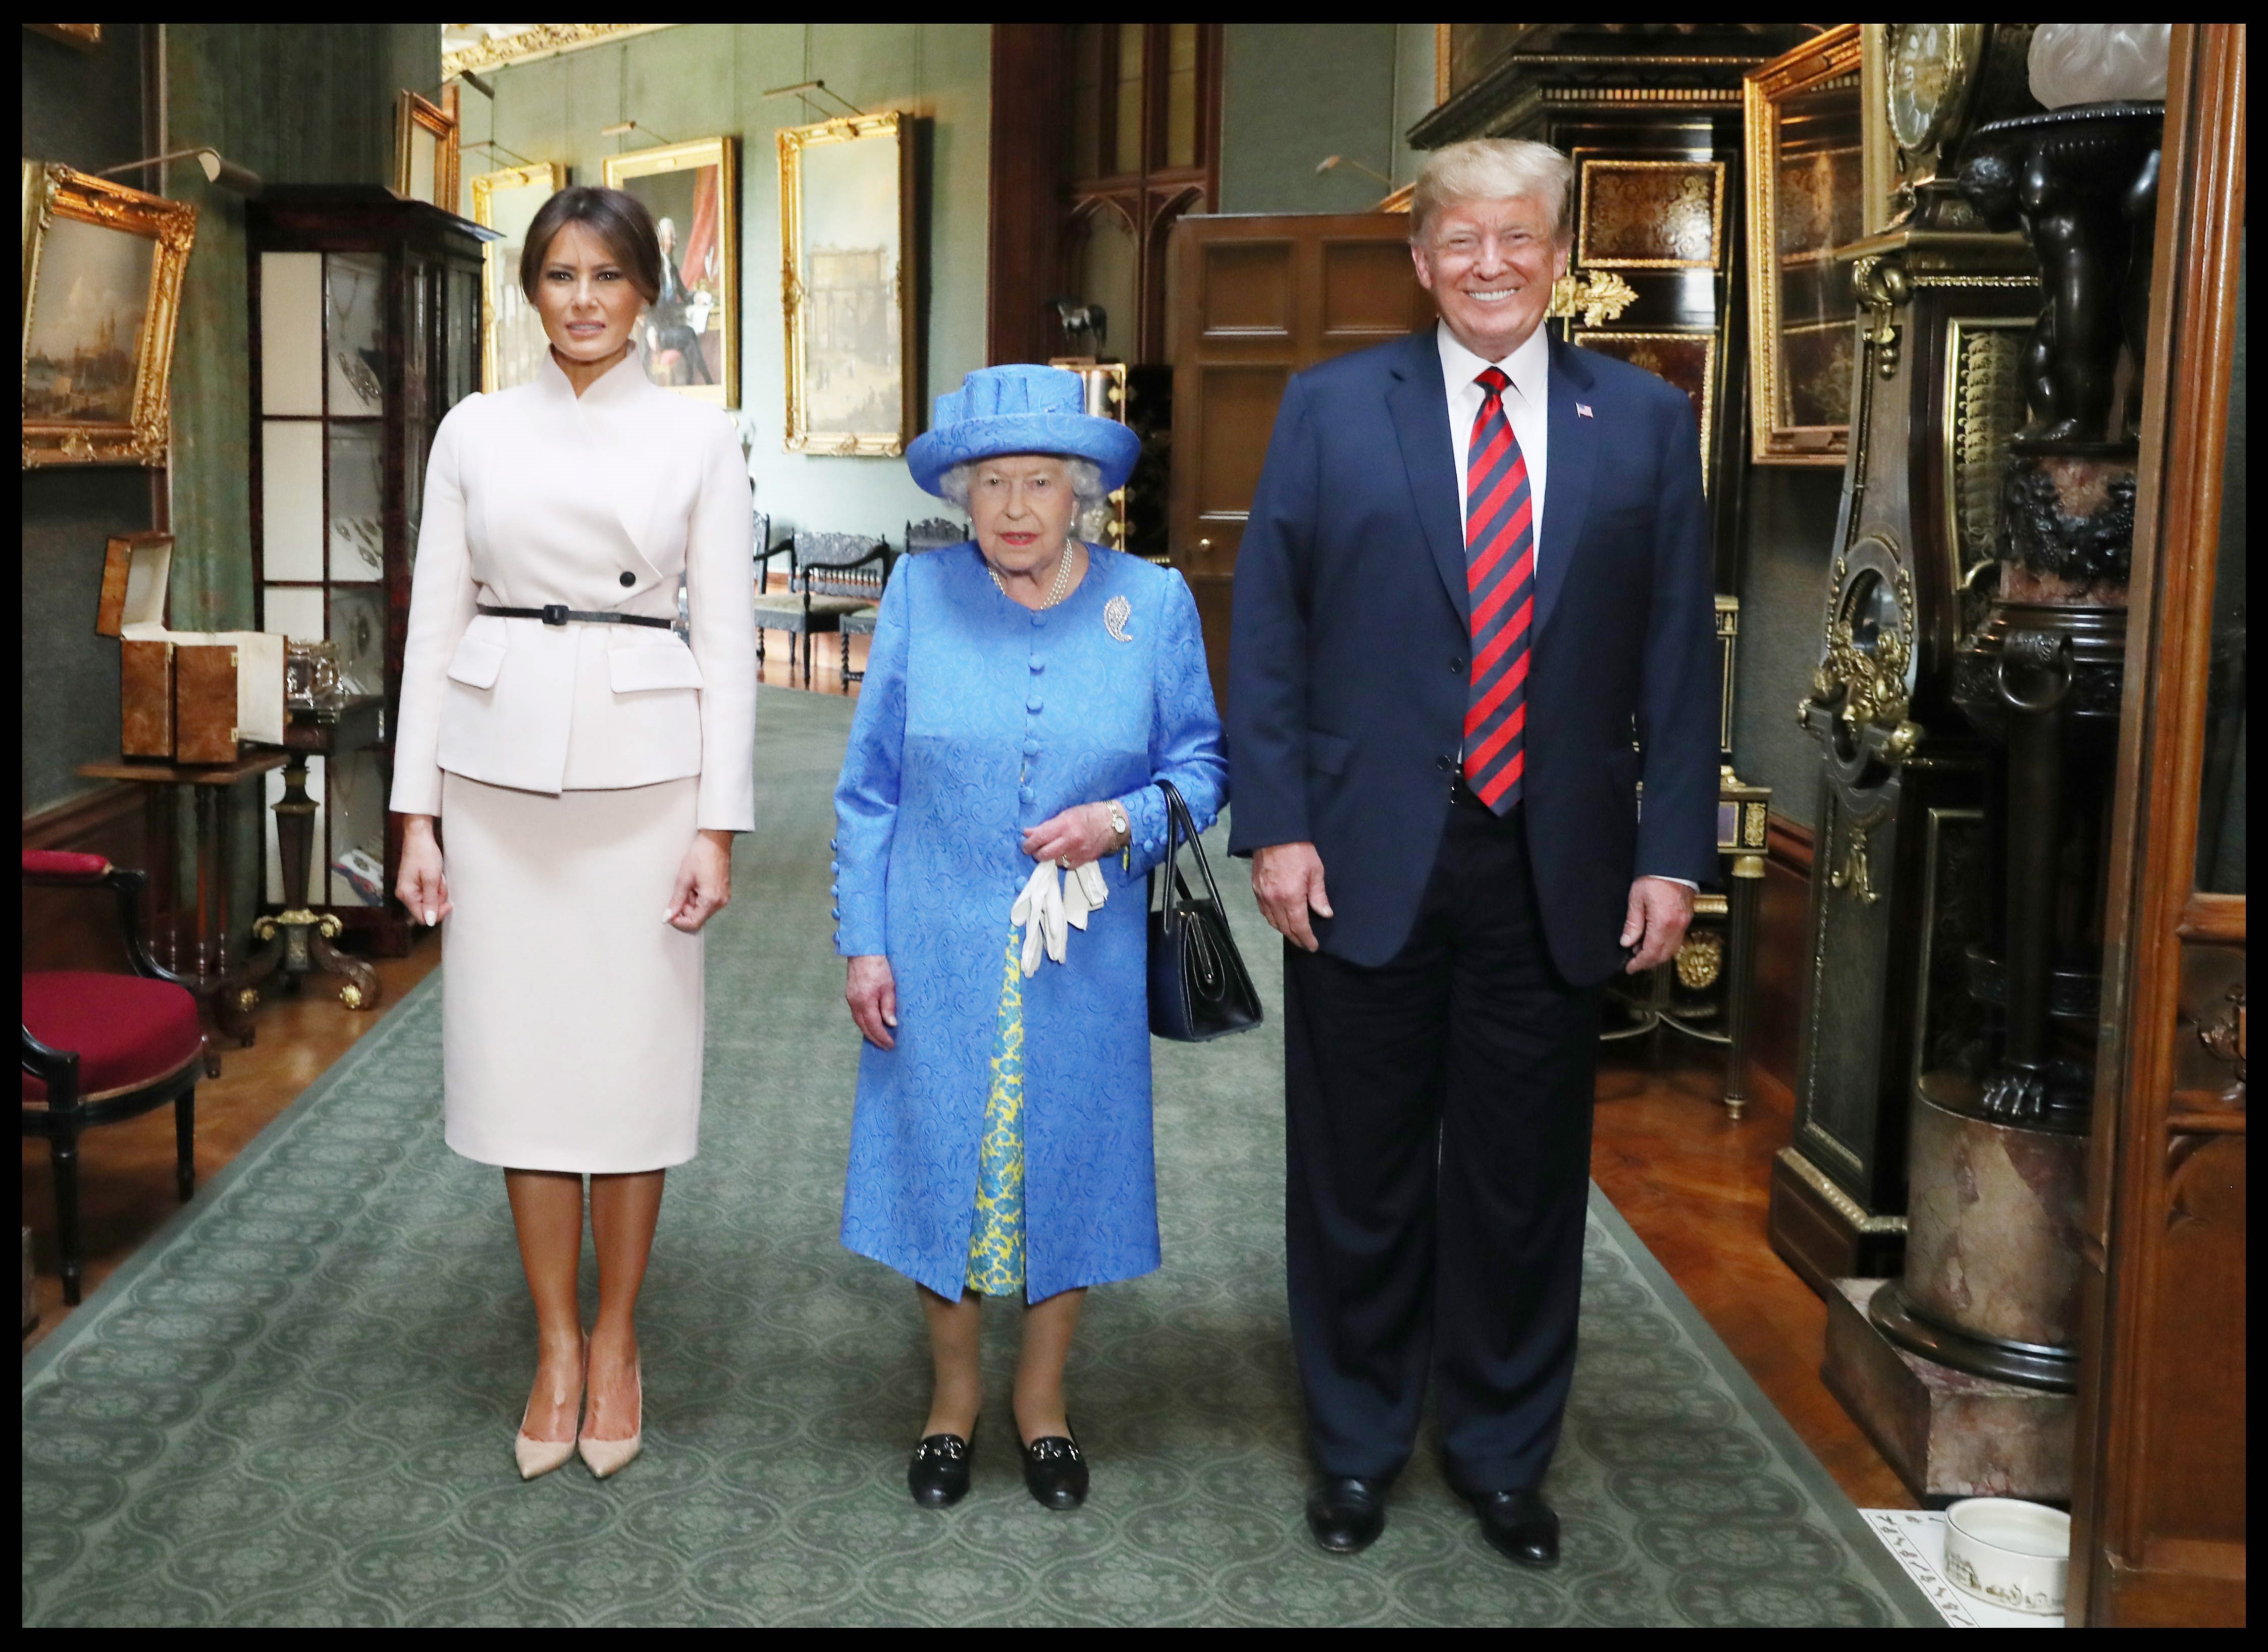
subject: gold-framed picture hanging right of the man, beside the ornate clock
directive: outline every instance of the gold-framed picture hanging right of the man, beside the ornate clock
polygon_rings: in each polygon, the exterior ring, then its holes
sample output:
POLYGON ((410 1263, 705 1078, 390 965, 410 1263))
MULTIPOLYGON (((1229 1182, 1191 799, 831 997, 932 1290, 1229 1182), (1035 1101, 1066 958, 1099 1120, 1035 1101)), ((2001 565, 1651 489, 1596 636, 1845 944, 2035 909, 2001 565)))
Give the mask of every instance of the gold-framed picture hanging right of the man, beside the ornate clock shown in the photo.
POLYGON ((1864 238, 1869 220, 1862 79, 1860 25, 1842 23, 1744 82, 1758 465, 1842 469, 1851 449, 1857 301, 1851 263, 1835 254, 1864 238))

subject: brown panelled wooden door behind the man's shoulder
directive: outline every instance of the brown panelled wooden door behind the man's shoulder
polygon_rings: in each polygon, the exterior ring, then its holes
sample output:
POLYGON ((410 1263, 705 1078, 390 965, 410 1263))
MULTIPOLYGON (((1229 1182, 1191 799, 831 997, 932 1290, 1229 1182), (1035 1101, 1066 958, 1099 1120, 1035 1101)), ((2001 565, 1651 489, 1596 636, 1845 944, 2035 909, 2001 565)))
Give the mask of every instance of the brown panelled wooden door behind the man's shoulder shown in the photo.
POLYGON ((1229 591, 1286 381, 1433 324, 1406 213, 1184 218, 1173 227, 1170 553, 1229 691, 1229 591))

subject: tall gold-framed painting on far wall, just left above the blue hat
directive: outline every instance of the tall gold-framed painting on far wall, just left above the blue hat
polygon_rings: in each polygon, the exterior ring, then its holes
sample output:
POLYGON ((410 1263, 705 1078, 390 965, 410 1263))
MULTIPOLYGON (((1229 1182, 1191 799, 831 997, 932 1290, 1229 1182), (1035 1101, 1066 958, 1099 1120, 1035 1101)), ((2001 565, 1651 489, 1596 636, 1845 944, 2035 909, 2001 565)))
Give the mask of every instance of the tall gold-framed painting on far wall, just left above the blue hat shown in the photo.
POLYGON ((789 453, 903 453, 919 399, 905 116, 780 129, 789 453))

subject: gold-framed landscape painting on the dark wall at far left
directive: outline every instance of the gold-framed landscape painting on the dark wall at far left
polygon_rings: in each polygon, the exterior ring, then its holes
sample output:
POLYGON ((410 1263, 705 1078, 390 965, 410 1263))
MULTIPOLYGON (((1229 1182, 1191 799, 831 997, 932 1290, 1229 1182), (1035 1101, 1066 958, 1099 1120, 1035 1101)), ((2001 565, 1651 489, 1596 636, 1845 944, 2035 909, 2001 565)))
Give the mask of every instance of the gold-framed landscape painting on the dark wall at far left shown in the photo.
POLYGON ((25 469, 166 462, 195 238, 188 202, 23 163, 25 469))

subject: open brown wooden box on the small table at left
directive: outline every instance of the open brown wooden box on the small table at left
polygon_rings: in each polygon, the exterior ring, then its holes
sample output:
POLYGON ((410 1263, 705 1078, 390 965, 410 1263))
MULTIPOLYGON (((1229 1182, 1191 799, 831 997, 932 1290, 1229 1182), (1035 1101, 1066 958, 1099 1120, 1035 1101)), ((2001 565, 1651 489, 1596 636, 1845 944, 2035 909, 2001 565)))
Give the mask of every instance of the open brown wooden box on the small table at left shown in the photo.
POLYGON ((125 757, 231 764, 238 741, 284 743, 284 637, 168 630, 172 535, 122 533, 102 557, 95 632, 118 637, 125 757))

